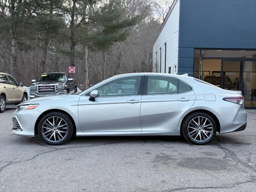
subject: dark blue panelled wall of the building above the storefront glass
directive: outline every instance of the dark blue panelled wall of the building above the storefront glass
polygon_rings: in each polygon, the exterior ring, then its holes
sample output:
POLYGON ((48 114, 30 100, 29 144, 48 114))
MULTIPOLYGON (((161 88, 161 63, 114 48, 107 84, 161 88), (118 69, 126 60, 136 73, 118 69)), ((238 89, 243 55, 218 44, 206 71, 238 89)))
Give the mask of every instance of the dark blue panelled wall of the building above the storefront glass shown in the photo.
POLYGON ((256 0, 180 0, 178 74, 193 76, 194 48, 256 49, 256 0))

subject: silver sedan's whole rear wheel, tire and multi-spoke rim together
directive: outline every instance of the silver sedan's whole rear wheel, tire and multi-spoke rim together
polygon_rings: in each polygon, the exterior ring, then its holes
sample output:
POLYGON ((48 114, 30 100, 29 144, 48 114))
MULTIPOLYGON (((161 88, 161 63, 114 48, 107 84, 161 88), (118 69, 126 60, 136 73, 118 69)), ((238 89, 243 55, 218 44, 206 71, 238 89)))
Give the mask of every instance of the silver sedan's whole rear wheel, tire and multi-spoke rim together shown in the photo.
POLYGON ((216 135, 216 122, 210 115, 196 112, 186 118, 182 133, 192 144, 208 144, 216 135))

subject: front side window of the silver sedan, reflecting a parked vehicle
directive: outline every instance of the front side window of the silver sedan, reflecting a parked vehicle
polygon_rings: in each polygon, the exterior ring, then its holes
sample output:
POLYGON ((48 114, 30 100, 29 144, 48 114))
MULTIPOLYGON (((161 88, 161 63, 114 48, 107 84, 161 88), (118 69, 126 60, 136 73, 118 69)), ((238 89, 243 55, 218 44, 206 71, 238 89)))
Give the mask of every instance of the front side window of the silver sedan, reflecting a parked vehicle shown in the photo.
POLYGON ((118 97, 138 95, 140 76, 120 78, 98 88, 100 97, 118 97))

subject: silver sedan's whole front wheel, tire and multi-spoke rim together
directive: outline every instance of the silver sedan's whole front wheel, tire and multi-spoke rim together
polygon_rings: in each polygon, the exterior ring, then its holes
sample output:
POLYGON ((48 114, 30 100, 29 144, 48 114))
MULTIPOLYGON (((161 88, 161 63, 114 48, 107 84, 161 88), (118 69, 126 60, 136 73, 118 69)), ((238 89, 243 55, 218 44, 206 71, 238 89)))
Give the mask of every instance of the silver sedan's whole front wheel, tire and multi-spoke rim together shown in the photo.
POLYGON ((66 143, 70 140, 72 133, 72 121, 61 112, 46 114, 38 124, 38 135, 40 139, 49 145, 66 143))

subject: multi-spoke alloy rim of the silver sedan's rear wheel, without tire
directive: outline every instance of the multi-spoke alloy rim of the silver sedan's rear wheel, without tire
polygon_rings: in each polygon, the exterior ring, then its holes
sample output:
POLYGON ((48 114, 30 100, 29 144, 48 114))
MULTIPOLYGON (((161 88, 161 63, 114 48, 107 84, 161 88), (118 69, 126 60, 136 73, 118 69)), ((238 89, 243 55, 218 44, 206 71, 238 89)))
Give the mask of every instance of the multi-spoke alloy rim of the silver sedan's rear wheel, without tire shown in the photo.
POLYGON ((194 141, 205 142, 212 137, 212 134, 212 122, 204 116, 197 116, 188 123, 188 135, 194 141))

